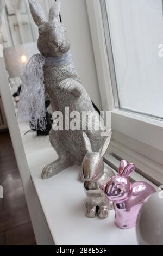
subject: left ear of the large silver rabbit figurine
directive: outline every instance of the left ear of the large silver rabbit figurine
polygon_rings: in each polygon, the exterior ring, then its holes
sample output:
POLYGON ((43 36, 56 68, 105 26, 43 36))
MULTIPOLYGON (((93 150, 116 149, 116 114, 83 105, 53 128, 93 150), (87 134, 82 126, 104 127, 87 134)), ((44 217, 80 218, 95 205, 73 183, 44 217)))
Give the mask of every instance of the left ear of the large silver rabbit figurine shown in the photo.
POLYGON ((32 14, 33 20, 39 27, 43 22, 46 22, 44 11, 40 4, 37 3, 37 1, 28 0, 28 2, 30 7, 30 13, 32 14))

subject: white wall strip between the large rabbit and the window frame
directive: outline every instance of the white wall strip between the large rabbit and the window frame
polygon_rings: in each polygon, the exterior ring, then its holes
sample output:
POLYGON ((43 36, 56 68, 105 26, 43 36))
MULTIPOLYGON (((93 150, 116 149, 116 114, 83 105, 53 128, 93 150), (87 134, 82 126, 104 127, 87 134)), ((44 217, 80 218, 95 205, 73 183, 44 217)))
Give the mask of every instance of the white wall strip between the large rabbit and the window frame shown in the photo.
MULTIPOLYGON (((38 0, 47 10, 48 0, 38 0)), ((47 11, 46 11, 47 15, 47 11)), ((89 20, 85 0, 61 0, 61 17, 71 40, 71 52, 83 85, 95 105, 102 109, 89 20)))

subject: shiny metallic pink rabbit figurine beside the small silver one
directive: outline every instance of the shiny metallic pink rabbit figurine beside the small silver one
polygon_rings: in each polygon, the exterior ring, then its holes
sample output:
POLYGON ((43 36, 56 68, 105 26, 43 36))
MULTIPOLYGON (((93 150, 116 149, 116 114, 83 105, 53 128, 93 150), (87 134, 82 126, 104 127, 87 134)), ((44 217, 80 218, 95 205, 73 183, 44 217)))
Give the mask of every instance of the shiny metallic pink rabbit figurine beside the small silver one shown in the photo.
POLYGON ((118 175, 112 177, 105 187, 106 197, 114 202, 115 223, 122 229, 135 227, 137 215, 143 202, 148 196, 156 192, 146 182, 131 184, 129 175, 134 170, 133 163, 122 160, 118 175))

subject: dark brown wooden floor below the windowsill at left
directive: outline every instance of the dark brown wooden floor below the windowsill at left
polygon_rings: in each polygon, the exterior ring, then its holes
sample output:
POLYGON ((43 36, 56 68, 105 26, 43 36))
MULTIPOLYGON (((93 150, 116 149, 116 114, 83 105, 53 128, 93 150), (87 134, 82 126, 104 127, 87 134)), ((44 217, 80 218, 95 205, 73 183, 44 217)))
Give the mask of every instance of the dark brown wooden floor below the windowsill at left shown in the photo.
POLYGON ((0 245, 35 245, 33 228, 8 132, 0 133, 0 245))

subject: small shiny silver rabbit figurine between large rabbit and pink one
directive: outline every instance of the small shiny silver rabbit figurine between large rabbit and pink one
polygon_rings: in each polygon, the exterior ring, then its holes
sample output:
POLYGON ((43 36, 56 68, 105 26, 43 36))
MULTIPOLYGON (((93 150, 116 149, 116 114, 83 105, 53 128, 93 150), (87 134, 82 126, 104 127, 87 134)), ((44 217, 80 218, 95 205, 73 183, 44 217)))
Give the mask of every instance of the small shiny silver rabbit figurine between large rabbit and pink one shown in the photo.
POLYGON ((103 156, 108 149, 111 130, 104 139, 101 149, 98 152, 92 152, 91 142, 86 133, 83 132, 83 139, 86 148, 86 155, 82 164, 84 188, 87 195, 86 215, 87 217, 96 217, 97 206, 99 218, 107 218, 109 210, 112 209, 111 202, 106 198, 104 190, 109 179, 115 173, 104 166, 103 156))

